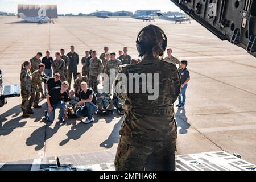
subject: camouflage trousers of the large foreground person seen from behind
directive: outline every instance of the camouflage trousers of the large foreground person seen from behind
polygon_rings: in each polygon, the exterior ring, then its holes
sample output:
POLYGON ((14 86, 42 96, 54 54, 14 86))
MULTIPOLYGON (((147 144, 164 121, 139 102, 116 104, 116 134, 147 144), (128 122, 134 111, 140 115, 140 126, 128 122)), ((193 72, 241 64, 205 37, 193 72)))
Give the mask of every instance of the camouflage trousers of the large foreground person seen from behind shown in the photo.
POLYGON ((152 141, 121 136, 115 155, 117 171, 175 171, 176 138, 152 141))

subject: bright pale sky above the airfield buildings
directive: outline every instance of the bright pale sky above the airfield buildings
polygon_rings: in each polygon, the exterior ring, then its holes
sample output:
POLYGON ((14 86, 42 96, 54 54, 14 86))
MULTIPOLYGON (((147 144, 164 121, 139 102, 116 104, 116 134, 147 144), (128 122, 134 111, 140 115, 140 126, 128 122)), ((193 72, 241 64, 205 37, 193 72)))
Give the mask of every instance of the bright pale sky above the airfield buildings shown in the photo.
POLYGON ((58 14, 92 13, 96 10, 134 11, 156 9, 162 12, 179 11, 170 0, 0 0, 0 11, 17 13, 18 4, 57 5, 58 14))

